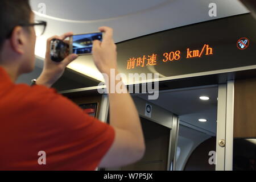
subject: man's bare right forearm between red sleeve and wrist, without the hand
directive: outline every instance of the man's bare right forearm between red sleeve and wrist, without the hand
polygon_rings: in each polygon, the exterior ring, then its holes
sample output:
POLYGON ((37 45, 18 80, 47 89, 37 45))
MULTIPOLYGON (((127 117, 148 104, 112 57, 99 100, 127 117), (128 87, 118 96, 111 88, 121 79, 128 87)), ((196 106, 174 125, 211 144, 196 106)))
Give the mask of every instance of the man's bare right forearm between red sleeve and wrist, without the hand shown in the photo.
POLYGON ((115 139, 100 167, 125 166, 138 161, 144 155, 141 122, 129 93, 110 93, 109 102, 110 125, 114 127, 115 139))

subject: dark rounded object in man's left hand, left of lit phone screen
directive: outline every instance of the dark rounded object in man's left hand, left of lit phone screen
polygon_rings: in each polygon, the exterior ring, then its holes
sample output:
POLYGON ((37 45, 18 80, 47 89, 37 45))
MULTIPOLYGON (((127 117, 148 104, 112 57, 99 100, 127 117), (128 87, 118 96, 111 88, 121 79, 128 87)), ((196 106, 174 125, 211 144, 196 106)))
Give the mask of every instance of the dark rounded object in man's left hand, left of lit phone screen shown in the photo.
POLYGON ((55 62, 60 62, 69 54, 69 45, 59 39, 52 39, 51 41, 51 59, 55 62))

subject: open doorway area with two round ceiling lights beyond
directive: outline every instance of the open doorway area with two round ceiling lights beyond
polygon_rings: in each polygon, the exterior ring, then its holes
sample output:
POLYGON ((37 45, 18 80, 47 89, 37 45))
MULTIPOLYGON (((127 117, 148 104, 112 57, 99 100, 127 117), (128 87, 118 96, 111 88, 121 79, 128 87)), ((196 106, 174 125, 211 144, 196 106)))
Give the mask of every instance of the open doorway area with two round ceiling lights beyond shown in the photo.
MULTIPOLYGON (((147 100, 146 95, 138 97, 147 100)), ((170 170, 215 170, 217 98, 218 85, 210 85, 164 90, 150 101, 179 118, 170 143, 170 170)))

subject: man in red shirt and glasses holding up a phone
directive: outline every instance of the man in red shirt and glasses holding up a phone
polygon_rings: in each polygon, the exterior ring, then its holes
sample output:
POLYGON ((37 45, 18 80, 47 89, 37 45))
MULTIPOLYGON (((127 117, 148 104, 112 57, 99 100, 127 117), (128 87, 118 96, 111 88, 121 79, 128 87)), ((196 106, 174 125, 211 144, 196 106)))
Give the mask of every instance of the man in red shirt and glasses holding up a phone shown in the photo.
MULTIPOLYGON (((15 84, 20 75, 34 69, 36 36, 43 34, 46 22, 34 21, 28 0, 1 0, 0 9, 0 170, 94 170, 141 159, 144 138, 128 93, 109 94, 108 125, 84 114, 51 88, 77 55, 55 63, 49 55, 50 42, 64 40, 71 32, 47 40, 44 68, 36 85, 15 84), (38 163, 40 151, 46 154, 46 164, 38 163)), ((93 43, 93 59, 110 79, 110 69, 118 73, 113 30, 99 30, 105 36, 93 43)))

